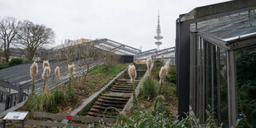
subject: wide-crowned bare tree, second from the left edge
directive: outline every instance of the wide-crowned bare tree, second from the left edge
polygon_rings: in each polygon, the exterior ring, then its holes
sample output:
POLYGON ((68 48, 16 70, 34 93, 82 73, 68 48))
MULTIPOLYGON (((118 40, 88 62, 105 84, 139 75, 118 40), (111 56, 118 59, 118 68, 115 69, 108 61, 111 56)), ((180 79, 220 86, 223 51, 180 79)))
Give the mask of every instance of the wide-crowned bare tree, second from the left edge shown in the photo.
POLYGON ((37 25, 31 21, 22 21, 18 29, 17 38, 19 40, 17 47, 27 59, 32 60, 38 48, 54 43, 55 32, 44 25, 37 25))

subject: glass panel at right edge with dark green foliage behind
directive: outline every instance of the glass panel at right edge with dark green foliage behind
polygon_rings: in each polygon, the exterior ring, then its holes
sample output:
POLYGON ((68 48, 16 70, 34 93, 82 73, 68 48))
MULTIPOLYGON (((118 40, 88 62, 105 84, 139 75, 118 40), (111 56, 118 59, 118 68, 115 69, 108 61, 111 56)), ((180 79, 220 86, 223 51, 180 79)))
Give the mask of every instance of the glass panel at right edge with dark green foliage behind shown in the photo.
POLYGON ((256 127, 256 45, 235 51, 239 125, 256 127))

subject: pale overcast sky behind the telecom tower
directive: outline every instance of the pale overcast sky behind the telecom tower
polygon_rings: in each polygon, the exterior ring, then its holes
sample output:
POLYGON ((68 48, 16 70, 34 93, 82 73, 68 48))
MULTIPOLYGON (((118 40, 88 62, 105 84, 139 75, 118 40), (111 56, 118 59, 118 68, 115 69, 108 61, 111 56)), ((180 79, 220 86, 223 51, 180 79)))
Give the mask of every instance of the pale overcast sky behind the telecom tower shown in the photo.
POLYGON ((175 20, 179 14, 227 0, 0 0, 0 17, 16 17, 45 24, 64 39, 108 38, 142 50, 154 45, 158 10, 163 44, 175 45, 175 20))

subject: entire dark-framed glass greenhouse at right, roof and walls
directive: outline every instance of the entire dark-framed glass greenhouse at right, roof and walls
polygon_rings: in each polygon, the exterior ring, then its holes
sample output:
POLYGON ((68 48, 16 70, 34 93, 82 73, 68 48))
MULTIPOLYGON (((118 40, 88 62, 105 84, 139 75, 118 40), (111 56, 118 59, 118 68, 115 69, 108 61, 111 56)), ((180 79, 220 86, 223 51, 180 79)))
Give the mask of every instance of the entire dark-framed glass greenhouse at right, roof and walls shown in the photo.
POLYGON ((208 110, 225 127, 239 119, 244 119, 242 126, 256 126, 255 5, 249 0, 222 2, 178 19, 178 33, 186 31, 188 40, 178 35, 179 113, 190 106, 201 121, 208 110))

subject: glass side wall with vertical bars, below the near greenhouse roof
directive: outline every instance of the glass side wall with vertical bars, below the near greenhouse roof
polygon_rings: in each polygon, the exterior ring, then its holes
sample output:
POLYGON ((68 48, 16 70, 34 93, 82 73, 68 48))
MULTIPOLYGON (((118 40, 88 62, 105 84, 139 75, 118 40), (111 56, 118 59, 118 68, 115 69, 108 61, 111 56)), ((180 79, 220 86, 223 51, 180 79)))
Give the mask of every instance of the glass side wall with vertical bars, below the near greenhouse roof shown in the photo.
POLYGON ((226 50, 198 37, 197 40, 197 117, 206 121, 206 109, 228 126, 226 50))

